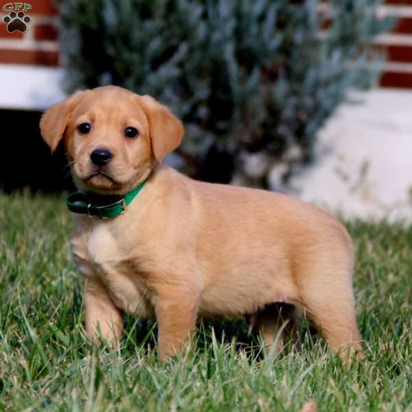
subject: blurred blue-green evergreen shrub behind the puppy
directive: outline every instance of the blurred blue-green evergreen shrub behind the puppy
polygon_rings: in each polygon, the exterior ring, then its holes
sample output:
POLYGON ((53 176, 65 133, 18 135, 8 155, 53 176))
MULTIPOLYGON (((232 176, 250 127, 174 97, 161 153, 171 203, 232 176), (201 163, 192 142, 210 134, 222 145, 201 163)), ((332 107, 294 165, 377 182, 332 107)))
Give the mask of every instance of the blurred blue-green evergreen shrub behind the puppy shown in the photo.
POLYGON ((65 0, 67 89, 153 95, 185 123, 178 153, 192 175, 268 187, 273 168, 282 181, 310 160, 347 91, 376 79, 371 42, 391 24, 380 3, 65 0))

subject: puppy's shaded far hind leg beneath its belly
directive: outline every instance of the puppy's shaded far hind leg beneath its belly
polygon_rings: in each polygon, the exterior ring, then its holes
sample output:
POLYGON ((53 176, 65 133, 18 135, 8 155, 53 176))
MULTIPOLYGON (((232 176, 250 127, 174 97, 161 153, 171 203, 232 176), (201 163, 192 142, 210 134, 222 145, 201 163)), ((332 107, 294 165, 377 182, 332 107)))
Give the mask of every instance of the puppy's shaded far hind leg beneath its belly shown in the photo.
POLYGON ((296 340, 296 312, 290 304, 270 304, 251 317, 251 328, 264 341, 266 350, 282 352, 286 336, 296 340))

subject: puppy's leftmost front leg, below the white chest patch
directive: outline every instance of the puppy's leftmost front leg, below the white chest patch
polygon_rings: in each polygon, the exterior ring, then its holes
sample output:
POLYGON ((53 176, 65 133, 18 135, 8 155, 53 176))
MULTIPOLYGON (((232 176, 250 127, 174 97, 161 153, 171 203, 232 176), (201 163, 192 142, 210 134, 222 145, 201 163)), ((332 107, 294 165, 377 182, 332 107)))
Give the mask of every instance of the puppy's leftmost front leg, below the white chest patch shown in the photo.
POLYGON ((95 278, 84 281, 84 324, 87 334, 95 341, 100 334, 114 345, 122 336, 122 312, 95 278))

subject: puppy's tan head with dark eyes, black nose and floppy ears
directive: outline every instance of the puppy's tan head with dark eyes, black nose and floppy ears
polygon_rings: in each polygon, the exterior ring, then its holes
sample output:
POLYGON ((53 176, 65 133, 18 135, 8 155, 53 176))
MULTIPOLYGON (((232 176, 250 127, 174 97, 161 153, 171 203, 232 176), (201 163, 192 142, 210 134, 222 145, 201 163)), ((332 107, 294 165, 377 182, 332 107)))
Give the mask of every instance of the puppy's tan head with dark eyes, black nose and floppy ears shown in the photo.
POLYGON ((184 133, 155 99, 114 86, 74 93, 45 112, 40 128, 52 152, 64 139, 78 188, 102 194, 124 194, 146 179, 184 133))

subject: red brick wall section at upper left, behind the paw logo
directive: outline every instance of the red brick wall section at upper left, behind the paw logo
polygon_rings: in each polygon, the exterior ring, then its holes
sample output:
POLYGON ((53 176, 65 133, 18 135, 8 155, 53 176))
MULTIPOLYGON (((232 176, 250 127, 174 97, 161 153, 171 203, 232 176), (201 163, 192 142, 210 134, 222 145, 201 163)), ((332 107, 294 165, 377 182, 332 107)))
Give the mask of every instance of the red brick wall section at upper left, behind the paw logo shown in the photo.
POLYGON ((26 32, 9 33, 3 23, 9 12, 5 12, 3 6, 10 7, 12 2, 0 0, 0 65, 58 66, 56 10, 51 1, 26 2, 32 6, 26 11, 26 16, 31 19, 26 32))

